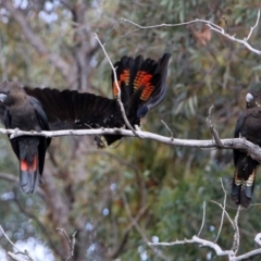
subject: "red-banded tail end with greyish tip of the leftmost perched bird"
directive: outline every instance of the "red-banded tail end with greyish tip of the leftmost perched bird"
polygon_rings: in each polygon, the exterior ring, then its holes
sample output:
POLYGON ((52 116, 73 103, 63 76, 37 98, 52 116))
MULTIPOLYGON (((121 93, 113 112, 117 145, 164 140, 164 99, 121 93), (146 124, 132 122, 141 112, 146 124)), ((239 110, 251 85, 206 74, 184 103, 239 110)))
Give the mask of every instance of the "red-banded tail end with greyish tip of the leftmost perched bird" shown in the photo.
POLYGON ((38 170, 38 154, 33 160, 20 160, 20 186, 25 194, 35 192, 40 179, 38 170))

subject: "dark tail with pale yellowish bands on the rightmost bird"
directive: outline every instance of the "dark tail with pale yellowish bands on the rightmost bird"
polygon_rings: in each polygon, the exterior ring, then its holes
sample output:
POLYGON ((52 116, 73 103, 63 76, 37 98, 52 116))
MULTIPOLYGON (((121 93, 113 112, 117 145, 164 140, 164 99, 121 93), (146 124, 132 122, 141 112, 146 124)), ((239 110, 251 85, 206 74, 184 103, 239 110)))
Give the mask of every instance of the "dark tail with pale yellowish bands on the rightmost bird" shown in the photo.
POLYGON ((249 157, 245 157, 240 165, 236 166, 232 183, 232 200, 236 204, 247 208, 252 198, 254 188, 257 163, 249 157))

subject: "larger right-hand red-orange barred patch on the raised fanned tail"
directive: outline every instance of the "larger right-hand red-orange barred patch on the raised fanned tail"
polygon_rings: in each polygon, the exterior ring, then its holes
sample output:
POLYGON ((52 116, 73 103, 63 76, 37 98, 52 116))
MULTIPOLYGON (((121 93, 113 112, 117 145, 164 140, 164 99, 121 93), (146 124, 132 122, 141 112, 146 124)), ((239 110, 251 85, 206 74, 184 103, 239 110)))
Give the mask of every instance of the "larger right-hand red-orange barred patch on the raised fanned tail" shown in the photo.
POLYGON ((148 74, 145 71, 139 71, 135 77, 134 89, 137 90, 138 88, 144 88, 140 96, 141 100, 147 100, 154 89, 154 86, 151 85, 150 82, 152 76, 153 76, 152 74, 148 74))

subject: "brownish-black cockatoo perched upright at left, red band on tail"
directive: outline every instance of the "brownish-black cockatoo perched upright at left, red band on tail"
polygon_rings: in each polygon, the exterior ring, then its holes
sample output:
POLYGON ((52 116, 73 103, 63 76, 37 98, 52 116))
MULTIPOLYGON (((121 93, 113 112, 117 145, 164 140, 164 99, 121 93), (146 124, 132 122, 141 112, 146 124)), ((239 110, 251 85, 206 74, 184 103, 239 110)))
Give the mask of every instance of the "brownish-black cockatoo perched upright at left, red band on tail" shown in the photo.
MULTIPOLYGON (((0 84, 0 100, 3 102, 3 123, 7 128, 22 130, 49 130, 45 111, 39 101, 26 95, 16 82, 0 84)), ((34 192, 44 171, 46 149, 51 139, 40 136, 21 136, 10 139, 20 160, 20 185, 24 192, 34 192)))

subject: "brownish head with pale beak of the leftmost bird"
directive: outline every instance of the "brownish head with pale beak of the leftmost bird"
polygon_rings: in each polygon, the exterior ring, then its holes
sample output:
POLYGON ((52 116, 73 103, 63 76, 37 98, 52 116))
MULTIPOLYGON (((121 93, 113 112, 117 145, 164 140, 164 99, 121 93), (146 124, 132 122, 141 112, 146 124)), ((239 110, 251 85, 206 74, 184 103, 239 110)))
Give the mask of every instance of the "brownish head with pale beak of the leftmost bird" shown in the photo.
POLYGON ((18 82, 4 80, 0 84, 0 101, 5 105, 12 105, 26 99, 23 85, 18 82))

